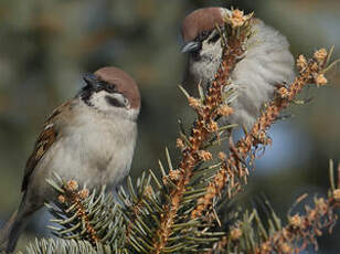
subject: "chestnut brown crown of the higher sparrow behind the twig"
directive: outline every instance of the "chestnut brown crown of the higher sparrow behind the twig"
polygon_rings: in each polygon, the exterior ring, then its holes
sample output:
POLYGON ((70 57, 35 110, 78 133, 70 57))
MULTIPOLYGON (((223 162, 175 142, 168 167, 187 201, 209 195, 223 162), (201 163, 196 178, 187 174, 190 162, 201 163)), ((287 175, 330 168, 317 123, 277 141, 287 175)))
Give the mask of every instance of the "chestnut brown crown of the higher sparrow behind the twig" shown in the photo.
POLYGON ((201 33, 212 31, 223 24, 220 7, 198 9, 188 14, 182 23, 182 38, 185 43, 195 40, 201 33))

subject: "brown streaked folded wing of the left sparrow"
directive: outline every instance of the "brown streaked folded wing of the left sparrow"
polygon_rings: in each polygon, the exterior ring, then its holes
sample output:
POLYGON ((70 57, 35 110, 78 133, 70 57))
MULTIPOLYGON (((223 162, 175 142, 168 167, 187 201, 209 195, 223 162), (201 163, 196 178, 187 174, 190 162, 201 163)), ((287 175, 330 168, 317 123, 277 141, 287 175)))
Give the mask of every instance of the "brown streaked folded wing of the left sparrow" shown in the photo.
POLYGON ((30 177, 39 161, 44 157, 50 147, 61 137, 61 133, 55 123, 60 120, 62 112, 70 112, 72 102, 66 102, 53 110, 43 125, 43 131, 39 135, 33 152, 26 161, 24 168, 24 177, 22 180, 21 191, 25 191, 30 181, 30 177))

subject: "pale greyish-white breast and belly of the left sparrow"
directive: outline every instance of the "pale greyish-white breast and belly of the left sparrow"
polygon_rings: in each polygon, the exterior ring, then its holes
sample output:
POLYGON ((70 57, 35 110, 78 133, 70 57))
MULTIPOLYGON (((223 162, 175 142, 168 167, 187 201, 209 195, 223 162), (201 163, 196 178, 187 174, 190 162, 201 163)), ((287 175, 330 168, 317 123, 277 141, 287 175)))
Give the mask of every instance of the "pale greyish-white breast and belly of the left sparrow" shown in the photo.
POLYGON ((47 176, 98 188, 116 186, 128 173, 137 138, 136 123, 94 118, 64 131, 42 161, 47 176))

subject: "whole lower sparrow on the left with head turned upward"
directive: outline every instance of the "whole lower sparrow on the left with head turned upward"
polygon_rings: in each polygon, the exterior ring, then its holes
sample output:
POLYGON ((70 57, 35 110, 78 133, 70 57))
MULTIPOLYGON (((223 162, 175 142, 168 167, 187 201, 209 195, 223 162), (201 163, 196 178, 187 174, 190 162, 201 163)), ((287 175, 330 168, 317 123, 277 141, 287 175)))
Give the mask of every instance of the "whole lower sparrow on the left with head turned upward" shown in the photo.
POLYGON ((29 157, 19 209, 0 233, 11 253, 28 219, 56 199, 54 173, 86 188, 115 188, 128 174, 137 139, 140 94, 135 80, 106 66, 83 76, 84 87, 47 117, 29 157))

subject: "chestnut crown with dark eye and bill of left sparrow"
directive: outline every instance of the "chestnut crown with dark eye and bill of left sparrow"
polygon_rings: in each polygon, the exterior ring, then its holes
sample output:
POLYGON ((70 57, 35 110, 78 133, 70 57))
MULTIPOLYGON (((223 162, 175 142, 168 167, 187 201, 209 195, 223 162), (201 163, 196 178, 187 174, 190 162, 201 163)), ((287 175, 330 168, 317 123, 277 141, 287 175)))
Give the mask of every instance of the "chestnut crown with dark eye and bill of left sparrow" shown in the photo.
POLYGON ((124 71, 117 67, 102 67, 94 74, 84 76, 84 81, 91 91, 83 88, 83 99, 86 102, 93 92, 105 89, 108 93, 121 94, 130 105, 130 108, 138 109, 140 107, 140 95, 137 83, 124 71))

